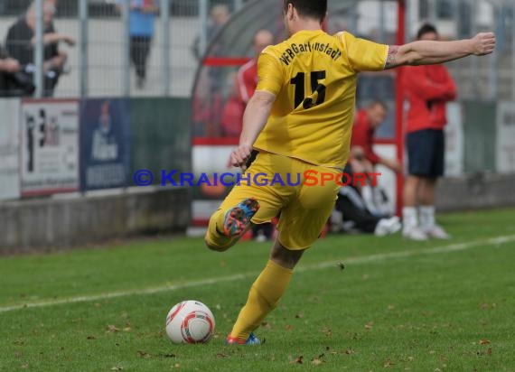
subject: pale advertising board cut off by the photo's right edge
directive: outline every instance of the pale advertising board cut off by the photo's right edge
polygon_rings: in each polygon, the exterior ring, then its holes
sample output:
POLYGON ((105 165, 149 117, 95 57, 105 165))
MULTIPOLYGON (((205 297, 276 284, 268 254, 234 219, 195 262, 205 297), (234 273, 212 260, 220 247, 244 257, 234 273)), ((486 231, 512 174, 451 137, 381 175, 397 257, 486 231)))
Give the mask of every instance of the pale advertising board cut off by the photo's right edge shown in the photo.
POLYGON ((500 173, 515 173, 515 102, 497 106, 495 168, 500 173))

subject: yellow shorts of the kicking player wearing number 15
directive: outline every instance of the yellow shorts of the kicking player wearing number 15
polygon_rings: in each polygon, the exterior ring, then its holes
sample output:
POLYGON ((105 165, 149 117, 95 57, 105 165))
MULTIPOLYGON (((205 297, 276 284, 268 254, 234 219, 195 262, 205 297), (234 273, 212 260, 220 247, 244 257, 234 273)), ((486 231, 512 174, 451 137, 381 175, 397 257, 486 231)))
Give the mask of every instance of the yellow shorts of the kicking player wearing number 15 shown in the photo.
POLYGON ((240 184, 229 192, 220 209, 233 208, 241 200, 254 197, 260 208, 252 218, 252 223, 267 223, 280 215, 277 227, 279 243, 290 250, 305 249, 312 246, 320 236, 331 215, 340 189, 334 179, 341 172, 274 153, 260 152, 240 184), (306 171, 313 171, 307 180, 304 177, 306 171), (325 178, 332 176, 333 180, 322 181, 322 174, 325 178), (274 178, 276 182, 271 184, 274 178))

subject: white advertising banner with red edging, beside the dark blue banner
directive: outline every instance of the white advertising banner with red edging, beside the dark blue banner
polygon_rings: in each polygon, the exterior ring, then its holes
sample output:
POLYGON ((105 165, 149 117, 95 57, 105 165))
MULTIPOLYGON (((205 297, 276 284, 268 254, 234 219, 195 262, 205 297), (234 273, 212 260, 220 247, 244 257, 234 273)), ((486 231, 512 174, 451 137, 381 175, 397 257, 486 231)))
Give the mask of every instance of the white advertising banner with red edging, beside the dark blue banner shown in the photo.
POLYGON ((79 190, 79 101, 22 102, 22 196, 79 190))

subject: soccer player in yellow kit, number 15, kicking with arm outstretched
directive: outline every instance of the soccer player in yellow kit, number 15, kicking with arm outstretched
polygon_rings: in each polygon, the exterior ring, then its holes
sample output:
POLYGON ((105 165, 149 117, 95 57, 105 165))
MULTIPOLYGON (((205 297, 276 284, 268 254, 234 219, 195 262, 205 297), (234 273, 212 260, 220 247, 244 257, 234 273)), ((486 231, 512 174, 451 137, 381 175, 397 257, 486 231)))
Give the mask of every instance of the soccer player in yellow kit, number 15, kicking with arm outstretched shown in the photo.
POLYGON ((276 307, 295 265, 331 214, 339 185, 320 180, 308 186, 304 177, 306 171, 334 176, 342 172, 350 147, 357 73, 485 55, 495 47, 493 33, 401 46, 345 32, 331 36, 321 29, 327 0, 283 0, 283 14, 290 38, 261 53, 257 90, 245 111, 239 146, 231 153, 231 163, 247 171, 248 181, 244 178, 235 186, 211 216, 205 237, 208 247, 224 251, 252 224, 280 214, 279 235, 227 337, 230 344, 260 343, 253 330, 276 307), (246 170, 253 148, 259 153, 246 170), (276 175, 282 183, 273 182, 276 175))

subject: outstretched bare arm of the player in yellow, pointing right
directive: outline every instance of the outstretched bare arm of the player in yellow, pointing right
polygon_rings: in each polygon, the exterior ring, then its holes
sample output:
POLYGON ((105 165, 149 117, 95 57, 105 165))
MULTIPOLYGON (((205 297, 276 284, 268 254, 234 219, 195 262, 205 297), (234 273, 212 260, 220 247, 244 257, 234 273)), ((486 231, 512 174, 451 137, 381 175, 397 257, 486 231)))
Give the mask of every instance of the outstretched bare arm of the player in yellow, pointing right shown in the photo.
POLYGON ((386 69, 398 66, 428 65, 459 60, 470 55, 483 56, 495 49, 493 33, 478 33, 472 39, 454 42, 417 41, 404 45, 390 45, 386 69))

